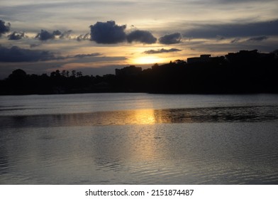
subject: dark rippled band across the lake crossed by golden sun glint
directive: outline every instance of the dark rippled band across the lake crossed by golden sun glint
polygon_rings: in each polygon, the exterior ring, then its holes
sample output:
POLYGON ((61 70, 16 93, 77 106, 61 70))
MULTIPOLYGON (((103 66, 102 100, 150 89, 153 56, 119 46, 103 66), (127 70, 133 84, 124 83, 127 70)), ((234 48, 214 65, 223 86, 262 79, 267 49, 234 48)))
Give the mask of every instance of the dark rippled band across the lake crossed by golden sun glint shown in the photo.
POLYGON ((137 109, 74 114, 0 116, 2 128, 73 127, 200 122, 268 122, 278 120, 278 106, 137 109))

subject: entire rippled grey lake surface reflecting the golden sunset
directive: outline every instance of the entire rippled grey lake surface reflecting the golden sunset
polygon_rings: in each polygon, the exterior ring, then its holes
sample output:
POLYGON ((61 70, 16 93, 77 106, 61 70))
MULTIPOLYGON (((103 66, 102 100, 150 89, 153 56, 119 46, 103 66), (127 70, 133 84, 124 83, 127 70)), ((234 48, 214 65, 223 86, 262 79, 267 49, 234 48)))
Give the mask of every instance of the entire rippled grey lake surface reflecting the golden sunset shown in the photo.
POLYGON ((0 184, 278 184, 278 95, 0 96, 0 184))

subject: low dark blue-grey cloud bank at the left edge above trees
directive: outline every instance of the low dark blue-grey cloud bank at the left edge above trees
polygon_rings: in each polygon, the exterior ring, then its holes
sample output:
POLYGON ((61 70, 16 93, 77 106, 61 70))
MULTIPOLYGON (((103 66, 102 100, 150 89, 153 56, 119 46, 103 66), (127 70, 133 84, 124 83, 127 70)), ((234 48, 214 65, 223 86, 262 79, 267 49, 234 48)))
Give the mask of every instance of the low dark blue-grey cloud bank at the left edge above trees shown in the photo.
POLYGON ((11 48, 0 46, 0 62, 37 62, 53 59, 55 59, 55 55, 47 50, 28 50, 18 46, 11 48))

